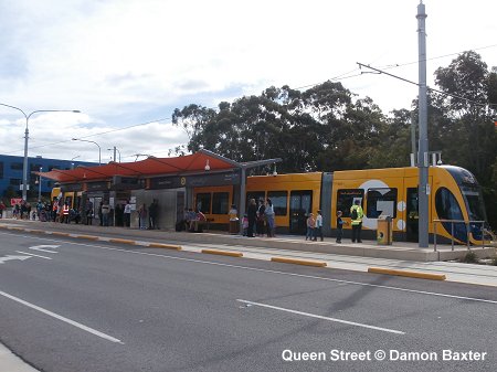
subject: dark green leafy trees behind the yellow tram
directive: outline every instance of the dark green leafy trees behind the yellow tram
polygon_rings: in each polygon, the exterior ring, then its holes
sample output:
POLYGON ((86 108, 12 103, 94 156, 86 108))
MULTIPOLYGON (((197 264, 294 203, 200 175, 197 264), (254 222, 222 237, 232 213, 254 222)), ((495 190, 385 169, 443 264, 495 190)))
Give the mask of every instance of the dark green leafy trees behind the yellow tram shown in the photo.
MULTIPOLYGON (((445 163, 475 174, 495 227, 497 72, 468 51, 434 75, 430 149, 442 151, 445 163)), ((282 158, 282 172, 406 167, 412 120, 417 121, 416 99, 410 109, 384 115, 372 98, 357 98, 330 81, 307 91, 271 86, 215 109, 191 104, 172 114, 173 124, 189 137, 177 152, 203 147, 237 161, 282 158)))

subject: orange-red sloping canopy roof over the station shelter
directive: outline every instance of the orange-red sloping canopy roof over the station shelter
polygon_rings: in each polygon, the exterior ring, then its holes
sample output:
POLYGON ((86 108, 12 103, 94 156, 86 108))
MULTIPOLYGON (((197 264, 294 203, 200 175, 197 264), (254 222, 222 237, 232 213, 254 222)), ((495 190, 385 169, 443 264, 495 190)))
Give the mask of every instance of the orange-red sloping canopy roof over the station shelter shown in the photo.
POLYGON ((52 169, 50 172, 35 172, 61 183, 76 183, 112 179, 114 176, 121 177, 158 177, 184 173, 205 172, 209 164, 211 171, 230 170, 240 168, 240 164, 228 158, 223 158, 208 150, 200 150, 193 155, 177 158, 155 158, 135 162, 114 162, 97 167, 77 167, 72 170, 52 169))

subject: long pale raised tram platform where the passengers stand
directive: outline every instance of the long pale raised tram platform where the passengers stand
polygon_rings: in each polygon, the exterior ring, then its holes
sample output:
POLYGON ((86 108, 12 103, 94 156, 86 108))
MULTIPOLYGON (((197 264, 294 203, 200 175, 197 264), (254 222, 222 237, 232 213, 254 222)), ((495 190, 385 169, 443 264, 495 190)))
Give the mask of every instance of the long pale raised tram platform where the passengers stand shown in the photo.
MULTIPOLYGON (((55 222, 40 222, 29 220, 0 220, 0 227, 22 226, 29 232, 65 232, 86 235, 98 235, 104 237, 114 237, 121 240, 146 241, 159 244, 210 244, 221 246, 240 247, 260 247, 281 251, 294 251, 306 253, 324 253, 358 257, 387 258, 396 261, 412 262, 444 262, 463 258, 468 248, 465 245, 437 244, 436 249, 433 244, 427 248, 420 248, 417 243, 393 242, 392 245, 379 245, 376 241, 362 241, 362 243, 351 243, 350 240, 342 238, 338 244, 332 237, 325 237, 324 242, 306 241, 305 236, 298 235, 276 235, 276 237, 246 237, 232 235, 226 232, 210 231, 203 233, 176 232, 173 230, 138 230, 129 227, 104 227, 83 224, 63 224, 55 222)), ((495 244, 495 243, 494 243, 495 244)), ((496 247, 490 246, 470 246, 477 257, 493 257, 496 254, 496 247)))

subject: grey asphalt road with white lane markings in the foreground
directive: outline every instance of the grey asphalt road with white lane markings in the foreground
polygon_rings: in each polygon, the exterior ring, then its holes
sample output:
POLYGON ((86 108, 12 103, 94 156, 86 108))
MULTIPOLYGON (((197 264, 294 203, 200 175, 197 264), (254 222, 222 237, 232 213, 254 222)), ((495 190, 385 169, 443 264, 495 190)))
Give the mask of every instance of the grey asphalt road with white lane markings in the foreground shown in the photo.
POLYGON ((0 232, 0 341, 42 371, 493 371, 496 313, 491 287, 0 232))

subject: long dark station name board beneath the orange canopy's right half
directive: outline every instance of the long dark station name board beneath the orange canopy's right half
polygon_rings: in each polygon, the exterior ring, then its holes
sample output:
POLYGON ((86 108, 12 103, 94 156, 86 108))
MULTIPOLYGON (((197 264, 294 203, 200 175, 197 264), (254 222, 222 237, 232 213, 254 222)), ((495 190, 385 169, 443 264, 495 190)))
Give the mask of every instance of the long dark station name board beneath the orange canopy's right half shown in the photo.
POLYGON ((240 184, 240 172, 157 177, 150 179, 150 189, 199 188, 240 184))

